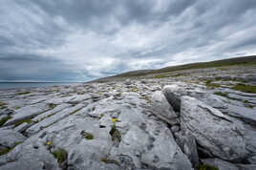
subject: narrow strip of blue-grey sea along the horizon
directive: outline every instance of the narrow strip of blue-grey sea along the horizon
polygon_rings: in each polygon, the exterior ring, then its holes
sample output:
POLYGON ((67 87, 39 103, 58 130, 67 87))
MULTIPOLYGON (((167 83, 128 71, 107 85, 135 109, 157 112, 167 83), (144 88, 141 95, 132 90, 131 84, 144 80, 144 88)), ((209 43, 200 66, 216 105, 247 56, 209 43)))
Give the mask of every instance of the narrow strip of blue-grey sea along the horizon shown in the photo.
POLYGON ((50 87, 81 84, 80 82, 0 82, 0 89, 17 89, 33 87, 50 87))

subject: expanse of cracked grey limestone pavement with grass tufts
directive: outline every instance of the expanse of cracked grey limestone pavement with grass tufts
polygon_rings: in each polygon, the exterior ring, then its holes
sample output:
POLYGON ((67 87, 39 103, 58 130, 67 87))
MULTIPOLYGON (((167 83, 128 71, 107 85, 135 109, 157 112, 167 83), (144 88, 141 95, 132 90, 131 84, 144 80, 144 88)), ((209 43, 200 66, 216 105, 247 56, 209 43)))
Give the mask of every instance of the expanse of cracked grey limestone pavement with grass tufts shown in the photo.
POLYGON ((0 91, 0 169, 256 169, 251 71, 0 91))

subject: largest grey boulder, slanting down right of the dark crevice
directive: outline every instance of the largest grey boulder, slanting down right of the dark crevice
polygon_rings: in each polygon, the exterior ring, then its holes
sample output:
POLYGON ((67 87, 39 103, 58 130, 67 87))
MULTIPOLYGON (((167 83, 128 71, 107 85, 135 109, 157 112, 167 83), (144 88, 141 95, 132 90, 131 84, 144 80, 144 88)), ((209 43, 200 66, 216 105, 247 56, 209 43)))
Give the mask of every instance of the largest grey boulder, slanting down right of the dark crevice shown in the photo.
POLYGON ((249 155, 243 124, 196 98, 181 96, 181 125, 210 156, 240 162, 249 155))

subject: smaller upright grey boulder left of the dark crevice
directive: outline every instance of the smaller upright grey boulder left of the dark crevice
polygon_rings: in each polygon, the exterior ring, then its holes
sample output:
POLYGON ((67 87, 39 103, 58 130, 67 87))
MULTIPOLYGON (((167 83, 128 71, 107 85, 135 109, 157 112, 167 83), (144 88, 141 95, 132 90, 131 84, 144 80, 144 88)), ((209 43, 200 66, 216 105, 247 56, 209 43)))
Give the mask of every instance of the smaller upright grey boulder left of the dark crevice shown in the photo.
POLYGON ((161 91, 157 91, 153 94, 152 109, 157 117, 160 117, 171 125, 176 124, 178 116, 161 91))

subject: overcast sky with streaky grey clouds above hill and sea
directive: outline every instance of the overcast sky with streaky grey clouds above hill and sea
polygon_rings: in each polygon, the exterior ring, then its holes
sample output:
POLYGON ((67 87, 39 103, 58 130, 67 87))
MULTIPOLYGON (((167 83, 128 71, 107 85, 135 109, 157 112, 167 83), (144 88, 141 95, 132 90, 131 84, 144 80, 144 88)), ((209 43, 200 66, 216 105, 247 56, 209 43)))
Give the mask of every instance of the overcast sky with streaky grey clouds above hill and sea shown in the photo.
POLYGON ((256 0, 0 0, 1 81, 88 81, 256 54, 256 0))

